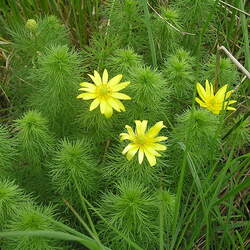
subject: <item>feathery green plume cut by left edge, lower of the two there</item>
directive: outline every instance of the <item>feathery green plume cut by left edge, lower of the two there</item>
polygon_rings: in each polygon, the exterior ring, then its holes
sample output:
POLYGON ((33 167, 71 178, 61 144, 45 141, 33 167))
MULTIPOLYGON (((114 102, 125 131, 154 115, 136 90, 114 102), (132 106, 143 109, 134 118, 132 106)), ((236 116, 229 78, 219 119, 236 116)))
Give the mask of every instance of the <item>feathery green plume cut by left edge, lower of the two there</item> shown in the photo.
POLYGON ((13 218, 18 210, 30 201, 30 197, 24 193, 14 181, 0 179, 0 229, 13 218))

